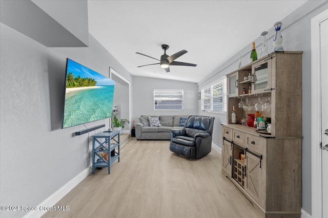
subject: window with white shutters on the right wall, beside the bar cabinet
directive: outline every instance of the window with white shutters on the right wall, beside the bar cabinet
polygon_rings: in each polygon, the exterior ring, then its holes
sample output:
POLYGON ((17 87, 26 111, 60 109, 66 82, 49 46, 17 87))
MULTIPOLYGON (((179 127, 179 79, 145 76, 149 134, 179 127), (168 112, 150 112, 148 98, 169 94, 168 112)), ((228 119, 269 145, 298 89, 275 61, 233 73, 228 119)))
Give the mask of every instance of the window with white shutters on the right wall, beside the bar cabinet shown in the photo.
POLYGON ((209 112, 227 112, 226 77, 201 89, 201 109, 209 112))

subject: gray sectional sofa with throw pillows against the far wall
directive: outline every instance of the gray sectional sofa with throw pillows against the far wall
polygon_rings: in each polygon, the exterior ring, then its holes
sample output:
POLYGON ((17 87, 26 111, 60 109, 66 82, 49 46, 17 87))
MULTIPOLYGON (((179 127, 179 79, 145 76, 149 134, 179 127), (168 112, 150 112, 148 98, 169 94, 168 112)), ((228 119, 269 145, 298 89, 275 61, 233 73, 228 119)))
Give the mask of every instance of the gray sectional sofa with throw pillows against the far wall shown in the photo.
POLYGON ((188 115, 141 115, 140 122, 135 124, 135 137, 137 140, 170 140, 171 129, 182 128, 187 117, 188 115), (158 118, 159 123, 150 123, 149 117, 158 118))

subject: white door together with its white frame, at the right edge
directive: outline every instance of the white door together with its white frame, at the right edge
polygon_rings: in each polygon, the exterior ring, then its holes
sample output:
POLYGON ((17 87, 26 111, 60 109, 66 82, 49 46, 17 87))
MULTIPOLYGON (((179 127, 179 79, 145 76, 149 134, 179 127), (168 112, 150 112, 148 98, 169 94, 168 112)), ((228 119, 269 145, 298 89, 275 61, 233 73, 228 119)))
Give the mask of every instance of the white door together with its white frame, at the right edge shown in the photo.
POLYGON ((311 215, 316 218, 328 218, 327 60, 328 10, 325 10, 311 19, 311 215))

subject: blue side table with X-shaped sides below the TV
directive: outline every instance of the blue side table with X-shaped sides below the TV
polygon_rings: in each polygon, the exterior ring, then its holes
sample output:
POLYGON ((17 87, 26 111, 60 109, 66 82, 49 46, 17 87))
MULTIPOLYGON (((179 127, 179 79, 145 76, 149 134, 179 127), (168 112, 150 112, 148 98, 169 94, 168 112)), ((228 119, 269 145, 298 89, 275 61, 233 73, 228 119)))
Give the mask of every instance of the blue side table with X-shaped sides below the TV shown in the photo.
POLYGON ((96 167, 108 167, 108 174, 111 173, 111 165, 118 159, 119 162, 119 140, 120 131, 113 132, 99 132, 92 136, 92 174, 96 167), (114 137, 117 136, 117 139, 114 137), (99 140, 99 139, 104 139, 99 140), (117 147, 117 152, 115 148, 117 147), (115 156, 111 157, 111 151, 115 152, 115 156), (108 160, 105 159, 107 153, 108 160), (98 157, 98 160, 95 160, 98 157))

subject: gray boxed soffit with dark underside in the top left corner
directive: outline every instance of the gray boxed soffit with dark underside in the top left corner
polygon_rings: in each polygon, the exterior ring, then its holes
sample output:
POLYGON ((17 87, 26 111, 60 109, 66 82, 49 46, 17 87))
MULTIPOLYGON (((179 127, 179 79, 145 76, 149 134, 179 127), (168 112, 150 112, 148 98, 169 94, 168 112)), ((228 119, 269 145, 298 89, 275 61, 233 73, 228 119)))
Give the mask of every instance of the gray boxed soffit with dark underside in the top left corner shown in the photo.
POLYGON ((2 23, 48 47, 88 45, 87 1, 0 1, 0 6, 2 23))

